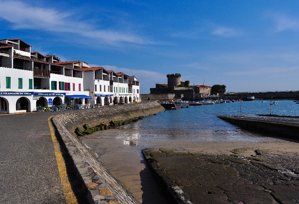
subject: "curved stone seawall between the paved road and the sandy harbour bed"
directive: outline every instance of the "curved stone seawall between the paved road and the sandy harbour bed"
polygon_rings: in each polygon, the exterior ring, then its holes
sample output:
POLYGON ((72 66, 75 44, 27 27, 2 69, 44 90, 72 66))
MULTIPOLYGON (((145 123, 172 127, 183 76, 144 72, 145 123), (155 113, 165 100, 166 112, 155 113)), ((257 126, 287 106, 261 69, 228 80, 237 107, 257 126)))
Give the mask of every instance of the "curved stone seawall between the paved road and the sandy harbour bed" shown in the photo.
POLYGON ((155 101, 69 112, 52 118, 57 134, 64 141, 65 148, 74 162, 74 169, 76 169, 76 174, 85 189, 89 203, 140 204, 75 136, 75 128, 83 128, 85 123, 90 127, 94 127, 100 123, 108 123, 111 120, 126 120, 147 116, 163 110, 164 108, 155 101))

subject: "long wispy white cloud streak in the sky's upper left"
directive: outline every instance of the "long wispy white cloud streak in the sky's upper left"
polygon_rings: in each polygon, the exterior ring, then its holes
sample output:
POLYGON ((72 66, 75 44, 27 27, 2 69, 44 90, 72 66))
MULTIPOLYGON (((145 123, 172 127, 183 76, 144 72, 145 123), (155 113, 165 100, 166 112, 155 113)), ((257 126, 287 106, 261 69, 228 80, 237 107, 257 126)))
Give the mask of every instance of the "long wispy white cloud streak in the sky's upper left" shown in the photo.
POLYGON ((75 12, 34 7, 20 1, 0 0, 0 18, 12 24, 12 29, 46 30, 59 33, 73 33, 82 37, 101 40, 106 43, 126 42, 152 44, 140 36, 114 30, 98 30, 87 22, 76 20, 75 12))

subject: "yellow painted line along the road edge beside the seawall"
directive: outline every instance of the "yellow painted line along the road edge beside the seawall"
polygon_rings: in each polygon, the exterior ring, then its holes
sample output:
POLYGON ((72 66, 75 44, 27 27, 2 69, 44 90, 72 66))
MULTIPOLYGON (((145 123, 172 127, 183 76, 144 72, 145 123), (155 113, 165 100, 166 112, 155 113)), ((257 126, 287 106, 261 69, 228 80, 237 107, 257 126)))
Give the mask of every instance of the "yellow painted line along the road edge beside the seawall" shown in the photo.
POLYGON ((60 175, 62 190, 64 192, 64 197, 65 197, 65 200, 66 200, 67 204, 78 204, 77 198, 75 197, 74 192, 73 192, 72 187, 71 187, 71 184, 69 183, 69 178, 68 178, 68 174, 66 173, 66 167, 65 167, 64 159, 63 159, 62 154, 60 152, 59 144, 58 144, 58 141, 55 137, 55 133, 54 133, 54 130, 53 130, 53 127, 52 127, 52 124, 51 124, 51 118, 52 117, 53 116, 48 118, 48 123, 49 123, 51 137, 52 137, 52 141, 53 141, 53 145, 54 145, 56 162, 57 162, 58 171, 59 171, 59 175, 60 175))

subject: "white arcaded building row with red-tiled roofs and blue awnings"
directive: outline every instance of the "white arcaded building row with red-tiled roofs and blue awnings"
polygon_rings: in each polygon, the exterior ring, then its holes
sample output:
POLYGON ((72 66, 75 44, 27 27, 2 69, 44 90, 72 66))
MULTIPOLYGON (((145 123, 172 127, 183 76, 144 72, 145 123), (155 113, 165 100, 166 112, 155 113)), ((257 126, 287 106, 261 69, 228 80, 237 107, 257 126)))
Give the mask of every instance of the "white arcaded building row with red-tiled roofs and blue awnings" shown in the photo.
POLYGON ((107 105, 113 99, 140 101, 139 81, 80 60, 61 62, 55 55, 31 52, 21 39, 0 40, 0 112, 31 112, 62 104, 107 105))

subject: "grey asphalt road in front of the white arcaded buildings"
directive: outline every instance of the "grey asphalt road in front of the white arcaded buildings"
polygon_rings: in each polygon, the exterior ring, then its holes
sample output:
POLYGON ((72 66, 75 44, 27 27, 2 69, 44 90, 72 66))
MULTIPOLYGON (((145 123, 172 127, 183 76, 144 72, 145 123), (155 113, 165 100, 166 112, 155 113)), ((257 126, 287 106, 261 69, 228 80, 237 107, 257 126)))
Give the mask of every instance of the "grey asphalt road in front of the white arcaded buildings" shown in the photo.
MULTIPOLYGON (((66 203, 48 124, 50 116, 65 112, 0 114, 0 203, 66 203)), ((74 194, 84 204, 72 164, 61 152, 74 194)))

